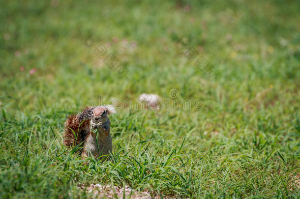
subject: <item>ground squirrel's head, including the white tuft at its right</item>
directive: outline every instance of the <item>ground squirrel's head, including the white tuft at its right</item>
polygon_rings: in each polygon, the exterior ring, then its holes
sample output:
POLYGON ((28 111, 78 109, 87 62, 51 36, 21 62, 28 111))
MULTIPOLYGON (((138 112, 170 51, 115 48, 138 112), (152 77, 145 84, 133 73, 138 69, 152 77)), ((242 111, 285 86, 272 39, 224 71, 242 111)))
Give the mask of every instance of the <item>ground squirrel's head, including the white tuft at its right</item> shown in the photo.
POLYGON ((98 122, 106 122, 108 120, 109 114, 114 114, 116 113, 115 108, 112 105, 108 106, 98 106, 95 107, 92 110, 92 122, 93 123, 98 123, 98 122))

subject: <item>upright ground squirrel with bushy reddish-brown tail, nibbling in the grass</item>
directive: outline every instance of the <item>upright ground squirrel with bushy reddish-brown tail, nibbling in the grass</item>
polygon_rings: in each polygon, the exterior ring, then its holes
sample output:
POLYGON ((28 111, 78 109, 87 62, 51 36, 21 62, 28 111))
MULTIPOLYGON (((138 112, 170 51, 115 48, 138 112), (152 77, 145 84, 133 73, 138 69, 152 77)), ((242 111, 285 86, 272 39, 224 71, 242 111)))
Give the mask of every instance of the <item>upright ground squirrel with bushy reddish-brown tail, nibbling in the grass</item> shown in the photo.
POLYGON ((64 144, 82 147, 79 153, 87 157, 92 154, 96 159, 112 152, 110 120, 108 114, 115 113, 111 105, 87 107, 82 113, 69 115, 64 124, 64 144))

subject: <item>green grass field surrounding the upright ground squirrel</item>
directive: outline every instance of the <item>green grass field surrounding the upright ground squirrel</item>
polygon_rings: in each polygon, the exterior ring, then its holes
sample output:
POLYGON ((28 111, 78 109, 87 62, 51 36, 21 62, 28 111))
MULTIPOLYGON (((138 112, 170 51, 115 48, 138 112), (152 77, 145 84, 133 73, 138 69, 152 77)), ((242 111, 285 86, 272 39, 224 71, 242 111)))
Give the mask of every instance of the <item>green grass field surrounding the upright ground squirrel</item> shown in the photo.
POLYGON ((79 183, 300 198, 299 1, 52 2, 0 1, 0 198, 90 198, 79 183), (105 65, 99 45, 128 72, 105 65), (189 48, 217 70, 213 81, 189 48), (85 164, 62 145, 68 114, 143 92, 203 104, 122 108, 110 162, 85 164))

